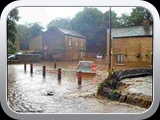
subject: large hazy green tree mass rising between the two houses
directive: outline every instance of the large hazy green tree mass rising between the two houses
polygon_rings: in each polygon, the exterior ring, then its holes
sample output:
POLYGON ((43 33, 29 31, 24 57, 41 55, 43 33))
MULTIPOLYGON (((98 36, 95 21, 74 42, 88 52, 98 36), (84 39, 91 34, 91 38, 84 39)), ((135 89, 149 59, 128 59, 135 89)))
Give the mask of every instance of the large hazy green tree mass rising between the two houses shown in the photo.
MULTIPOLYGON (((109 28, 109 13, 110 11, 106 11, 103 14, 97 8, 86 7, 71 20, 73 30, 86 36, 88 52, 106 53, 106 30, 109 28)), ((112 11, 111 15, 112 27, 119 26, 117 14, 112 11)))

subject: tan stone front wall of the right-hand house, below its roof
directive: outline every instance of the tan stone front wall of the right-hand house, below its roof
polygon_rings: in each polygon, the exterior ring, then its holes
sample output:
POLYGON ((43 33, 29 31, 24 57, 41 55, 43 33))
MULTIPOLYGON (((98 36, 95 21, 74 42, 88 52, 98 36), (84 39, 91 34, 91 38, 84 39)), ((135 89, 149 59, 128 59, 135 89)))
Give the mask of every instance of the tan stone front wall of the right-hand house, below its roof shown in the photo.
POLYGON ((115 69, 151 67, 152 37, 114 38, 112 49, 112 66, 115 69), (123 64, 116 63, 116 54, 124 55, 123 64), (137 54, 140 54, 139 58, 137 54))

